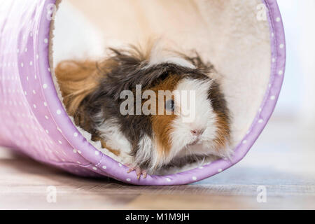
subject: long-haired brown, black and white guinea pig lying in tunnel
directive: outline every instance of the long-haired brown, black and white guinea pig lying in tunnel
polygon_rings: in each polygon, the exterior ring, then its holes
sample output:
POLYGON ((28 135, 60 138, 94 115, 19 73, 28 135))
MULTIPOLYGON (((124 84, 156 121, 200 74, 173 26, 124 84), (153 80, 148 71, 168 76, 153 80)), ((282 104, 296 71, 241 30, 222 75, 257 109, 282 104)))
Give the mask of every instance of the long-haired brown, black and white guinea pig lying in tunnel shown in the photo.
POLYGON ((76 125, 124 158, 138 179, 232 153, 229 110, 214 66, 197 52, 157 51, 111 49, 102 62, 64 61, 55 69, 76 125))

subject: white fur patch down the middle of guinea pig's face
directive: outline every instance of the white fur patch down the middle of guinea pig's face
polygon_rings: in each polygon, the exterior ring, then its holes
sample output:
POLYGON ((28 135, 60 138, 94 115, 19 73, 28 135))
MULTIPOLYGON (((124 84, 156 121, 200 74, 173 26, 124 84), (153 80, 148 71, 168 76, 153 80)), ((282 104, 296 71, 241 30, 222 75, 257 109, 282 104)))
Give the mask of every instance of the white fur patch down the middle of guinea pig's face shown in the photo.
MULTIPOLYGON (((195 92, 196 96, 192 97, 192 100, 195 99, 195 102, 194 105, 191 105, 192 107, 195 106, 195 109, 188 110, 195 112, 195 114, 190 114, 194 118, 191 123, 184 123, 183 115, 178 116, 173 121, 172 127, 174 127, 174 131, 172 132, 172 150, 169 155, 169 161, 176 156, 216 154, 216 151, 214 151, 214 147, 216 146, 214 146, 213 141, 217 137, 218 127, 216 126, 216 122, 218 118, 208 99, 208 90, 211 85, 211 80, 186 79, 181 80, 177 85, 177 91, 188 90, 195 92), (191 130, 203 130, 203 133, 197 137, 191 130), (197 141, 196 144, 190 146, 189 144, 194 141, 197 141), (207 148, 207 150, 204 151, 204 148, 207 148)), ((183 98, 186 99, 186 97, 183 98)), ((183 102, 180 102, 180 100, 176 97, 175 104, 181 105, 183 102)), ((187 104, 187 102, 185 103, 187 104)), ((227 151, 224 152, 228 153, 227 151)), ((224 156, 228 156, 228 154, 224 156)))

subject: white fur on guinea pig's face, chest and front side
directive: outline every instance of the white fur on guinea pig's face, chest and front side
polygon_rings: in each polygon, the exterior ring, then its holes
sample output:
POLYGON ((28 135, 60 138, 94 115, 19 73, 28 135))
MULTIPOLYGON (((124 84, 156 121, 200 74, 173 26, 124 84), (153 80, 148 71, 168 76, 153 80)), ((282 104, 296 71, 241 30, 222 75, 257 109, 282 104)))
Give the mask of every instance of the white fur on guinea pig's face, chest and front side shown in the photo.
MULTIPOLYGON (((183 66, 182 63, 180 65, 183 66)), ((151 160, 150 167, 147 168, 148 172, 153 172, 154 169, 168 165, 169 162, 176 160, 176 158, 185 158, 188 155, 216 155, 221 158, 229 158, 232 150, 228 144, 223 145, 222 147, 224 148, 220 150, 217 148, 218 144, 214 142, 218 137, 218 125, 216 125, 218 116, 211 106, 211 101, 208 99, 208 91, 212 83, 212 80, 183 79, 176 85, 174 92, 193 91, 195 92, 195 97, 183 97, 180 94, 174 94, 175 104, 179 108, 188 108, 190 114, 183 115, 182 111, 180 111, 179 116, 170 124, 173 130, 170 138, 171 148, 169 153, 162 158, 156 150, 154 137, 151 139, 145 134, 139 140, 139 153, 134 158, 129 154, 132 151, 130 142, 121 134, 115 121, 106 120, 97 130, 102 133, 102 138, 106 141, 107 146, 120 148, 122 153, 120 156, 123 157, 127 164, 138 164, 141 160, 151 160), (183 119, 187 118, 187 116, 192 116, 193 118, 189 123, 183 122, 183 119), (191 132, 192 130, 203 130, 203 133, 200 136, 196 136, 191 132)))

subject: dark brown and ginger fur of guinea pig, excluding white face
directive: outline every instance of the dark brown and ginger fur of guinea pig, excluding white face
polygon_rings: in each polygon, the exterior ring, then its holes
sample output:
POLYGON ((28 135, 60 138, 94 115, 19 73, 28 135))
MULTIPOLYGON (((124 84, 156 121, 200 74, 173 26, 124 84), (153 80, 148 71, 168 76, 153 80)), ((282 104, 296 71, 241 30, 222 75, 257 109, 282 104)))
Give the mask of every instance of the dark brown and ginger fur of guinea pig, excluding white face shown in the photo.
MULTIPOLYGON (((123 116, 119 111, 122 103, 120 93, 123 90, 134 92, 135 86, 141 85, 142 91, 153 90, 158 95, 159 90, 172 92, 179 83, 183 83, 183 80, 192 82, 197 80, 203 86, 204 83, 211 83, 211 87, 207 90, 207 99, 211 102, 210 111, 214 113, 211 119, 214 119, 216 129, 212 134, 214 138, 211 141, 206 140, 209 141, 209 147, 215 155, 228 154, 223 152, 223 148, 229 144, 230 113, 220 85, 216 80, 209 78, 209 73, 214 72, 214 67, 202 62, 197 53, 194 57, 178 54, 179 57, 193 64, 193 68, 172 62, 148 66, 151 50, 151 48, 145 51, 138 48, 128 51, 111 49, 112 55, 102 62, 70 60, 59 63, 55 69, 57 82, 64 98, 66 111, 73 116, 76 125, 90 132, 92 140, 101 141, 102 147, 116 155, 122 155, 123 149, 116 148, 116 144, 109 144, 110 137, 103 133, 106 132, 106 127, 114 131, 117 129, 119 134, 130 143, 128 154, 142 169, 155 169, 167 165, 161 161, 167 160, 174 153, 172 134, 176 132, 176 127, 173 124, 176 123, 178 116, 175 113, 123 116), (150 144, 148 139, 152 141, 150 144), (149 152, 144 152, 146 150, 149 152)), ((144 104, 144 99, 141 100, 144 104)), ((161 101, 161 99, 148 100, 161 101)), ((165 104, 164 97, 162 104, 165 104)), ((158 107, 156 109, 158 110, 158 107)), ((171 160, 172 158, 169 162, 171 160)))

